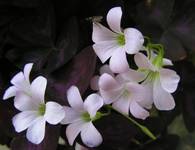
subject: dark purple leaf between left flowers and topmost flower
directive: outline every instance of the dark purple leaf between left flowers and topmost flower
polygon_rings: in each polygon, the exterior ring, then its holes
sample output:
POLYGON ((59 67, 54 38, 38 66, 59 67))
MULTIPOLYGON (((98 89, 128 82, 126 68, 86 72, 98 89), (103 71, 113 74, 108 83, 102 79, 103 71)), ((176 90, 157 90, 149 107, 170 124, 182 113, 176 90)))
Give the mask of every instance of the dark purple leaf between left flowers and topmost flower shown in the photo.
POLYGON ((66 91, 72 86, 78 86, 81 94, 88 88, 95 71, 96 55, 92 47, 84 48, 67 65, 64 65, 49 77, 50 88, 55 93, 59 103, 67 104, 66 91))

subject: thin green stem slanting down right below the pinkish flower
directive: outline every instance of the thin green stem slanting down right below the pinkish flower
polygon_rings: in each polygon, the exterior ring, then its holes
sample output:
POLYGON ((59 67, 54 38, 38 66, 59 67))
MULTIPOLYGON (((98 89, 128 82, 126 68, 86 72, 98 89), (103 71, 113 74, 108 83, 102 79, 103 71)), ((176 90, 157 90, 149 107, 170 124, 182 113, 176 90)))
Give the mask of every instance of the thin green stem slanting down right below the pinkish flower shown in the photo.
POLYGON ((154 136, 154 134, 145 126, 139 124, 137 121, 135 121, 134 119, 132 119, 131 117, 129 117, 128 115, 125 115, 121 112, 119 112, 118 110, 114 109, 112 106, 108 105, 107 107, 109 107, 110 109, 120 113, 121 115, 123 115, 125 118, 127 118, 129 121, 131 121, 134 125, 136 125, 137 127, 139 127, 142 132, 144 134, 146 134, 148 137, 150 137, 152 140, 156 140, 156 137, 154 136))

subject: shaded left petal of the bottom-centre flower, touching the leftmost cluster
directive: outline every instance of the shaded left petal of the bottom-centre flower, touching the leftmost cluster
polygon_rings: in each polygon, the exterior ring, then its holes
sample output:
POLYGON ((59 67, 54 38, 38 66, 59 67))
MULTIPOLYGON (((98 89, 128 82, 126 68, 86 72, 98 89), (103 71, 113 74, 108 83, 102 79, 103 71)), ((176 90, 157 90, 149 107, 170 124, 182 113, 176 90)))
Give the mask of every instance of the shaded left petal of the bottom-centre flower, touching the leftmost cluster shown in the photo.
POLYGON ((73 108, 64 106, 65 117, 61 121, 61 124, 70 124, 81 120, 81 114, 76 112, 73 108))

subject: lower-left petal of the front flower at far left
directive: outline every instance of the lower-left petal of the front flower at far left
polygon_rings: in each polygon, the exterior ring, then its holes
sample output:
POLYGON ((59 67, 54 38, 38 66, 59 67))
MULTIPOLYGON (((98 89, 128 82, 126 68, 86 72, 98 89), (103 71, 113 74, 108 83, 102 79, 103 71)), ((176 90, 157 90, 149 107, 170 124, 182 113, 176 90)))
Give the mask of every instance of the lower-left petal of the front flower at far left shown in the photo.
POLYGON ((26 130, 37 118, 36 111, 23 111, 15 115, 12 119, 13 126, 16 132, 26 130))

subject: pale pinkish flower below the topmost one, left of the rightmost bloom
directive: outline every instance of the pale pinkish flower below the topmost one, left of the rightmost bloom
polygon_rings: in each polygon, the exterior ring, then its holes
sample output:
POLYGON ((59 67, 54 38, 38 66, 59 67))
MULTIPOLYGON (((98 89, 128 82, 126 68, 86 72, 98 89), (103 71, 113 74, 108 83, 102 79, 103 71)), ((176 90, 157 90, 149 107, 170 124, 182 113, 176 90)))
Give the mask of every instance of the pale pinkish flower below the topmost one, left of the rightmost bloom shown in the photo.
POLYGON ((136 82, 123 82, 124 80, 113 78, 109 74, 103 74, 99 79, 100 94, 106 104, 112 104, 113 108, 126 115, 131 114, 139 119, 146 119, 149 112, 141 105, 144 101, 145 88, 136 82))

